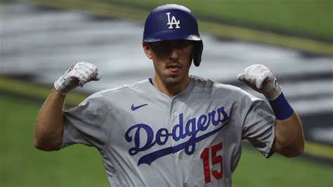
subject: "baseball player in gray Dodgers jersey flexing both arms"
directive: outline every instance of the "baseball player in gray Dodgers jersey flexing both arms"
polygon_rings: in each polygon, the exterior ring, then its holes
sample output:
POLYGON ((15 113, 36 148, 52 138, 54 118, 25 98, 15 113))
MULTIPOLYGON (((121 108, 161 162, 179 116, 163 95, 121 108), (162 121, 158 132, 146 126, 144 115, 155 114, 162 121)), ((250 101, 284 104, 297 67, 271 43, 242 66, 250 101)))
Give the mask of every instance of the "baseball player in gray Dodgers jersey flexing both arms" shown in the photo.
POLYGON ((34 146, 96 147, 110 186, 231 186, 243 139, 265 157, 303 153, 299 118, 268 67, 251 65, 237 76, 268 101, 189 75, 192 62, 200 65, 203 43, 188 8, 155 8, 145 21, 143 50, 153 77, 63 111, 69 91, 100 79, 91 63, 70 67, 41 107, 34 146))

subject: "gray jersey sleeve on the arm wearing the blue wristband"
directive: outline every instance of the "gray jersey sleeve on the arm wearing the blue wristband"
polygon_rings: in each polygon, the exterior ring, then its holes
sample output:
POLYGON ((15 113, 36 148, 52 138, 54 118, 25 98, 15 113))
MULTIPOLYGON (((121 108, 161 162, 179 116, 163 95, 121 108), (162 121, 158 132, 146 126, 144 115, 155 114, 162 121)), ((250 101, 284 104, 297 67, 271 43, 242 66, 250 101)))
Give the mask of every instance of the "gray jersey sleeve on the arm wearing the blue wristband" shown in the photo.
POLYGON ((242 138, 247 139, 265 157, 273 155, 275 115, 267 101, 249 93, 242 96, 242 138))

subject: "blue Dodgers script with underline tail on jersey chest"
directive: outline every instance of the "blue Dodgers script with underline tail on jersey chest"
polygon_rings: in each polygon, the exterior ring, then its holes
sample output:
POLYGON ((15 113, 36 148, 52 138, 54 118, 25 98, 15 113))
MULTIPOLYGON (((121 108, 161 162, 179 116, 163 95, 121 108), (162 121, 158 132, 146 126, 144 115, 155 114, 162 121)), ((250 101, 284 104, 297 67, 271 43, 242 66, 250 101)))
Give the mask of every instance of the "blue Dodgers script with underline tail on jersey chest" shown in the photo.
POLYGON ((126 141, 133 141, 134 143, 134 147, 129 149, 129 155, 136 155, 138 152, 149 150, 155 144, 163 146, 169 138, 179 141, 187 137, 190 137, 188 141, 179 143, 176 146, 162 148, 143 155, 138 160, 138 165, 150 165, 159 157, 174 154, 180 150, 185 150, 187 155, 192 155, 195 152, 195 144, 197 142, 216 134, 222 127, 228 124, 228 120, 229 117, 224 107, 220 107, 209 112, 207 115, 200 115, 198 118, 193 117, 187 122, 183 122, 183 113, 181 113, 179 115, 179 123, 174 125, 174 128, 170 132, 166 128, 161 128, 157 132, 154 132, 148 124, 134 124, 125 134, 126 141), (206 131, 211 124, 216 127, 214 130, 197 136, 200 131, 206 131))

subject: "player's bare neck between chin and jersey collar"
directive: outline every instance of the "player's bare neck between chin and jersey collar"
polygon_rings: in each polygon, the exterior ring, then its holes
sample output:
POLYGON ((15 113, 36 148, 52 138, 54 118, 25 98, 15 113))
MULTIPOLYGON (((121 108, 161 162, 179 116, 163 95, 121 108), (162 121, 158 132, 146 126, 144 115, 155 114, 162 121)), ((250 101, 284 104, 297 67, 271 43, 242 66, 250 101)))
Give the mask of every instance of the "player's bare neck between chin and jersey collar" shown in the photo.
POLYGON ((183 79, 179 84, 167 84, 157 76, 152 78, 152 84, 155 86, 155 88, 170 98, 176 96, 178 93, 181 93, 181 91, 183 91, 189 83, 190 76, 188 76, 186 79, 183 79))

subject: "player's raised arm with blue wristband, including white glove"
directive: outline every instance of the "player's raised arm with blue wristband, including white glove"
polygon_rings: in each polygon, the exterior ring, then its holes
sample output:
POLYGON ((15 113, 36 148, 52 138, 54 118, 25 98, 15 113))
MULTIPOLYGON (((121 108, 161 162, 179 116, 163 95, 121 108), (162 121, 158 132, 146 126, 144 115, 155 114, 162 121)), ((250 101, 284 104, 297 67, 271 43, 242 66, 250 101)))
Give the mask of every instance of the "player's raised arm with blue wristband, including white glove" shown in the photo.
POLYGON ((263 93, 268 99, 276 118, 273 145, 275 152, 286 157, 301 155, 304 150, 301 122, 283 95, 273 72, 264 65, 251 65, 237 79, 263 93))

